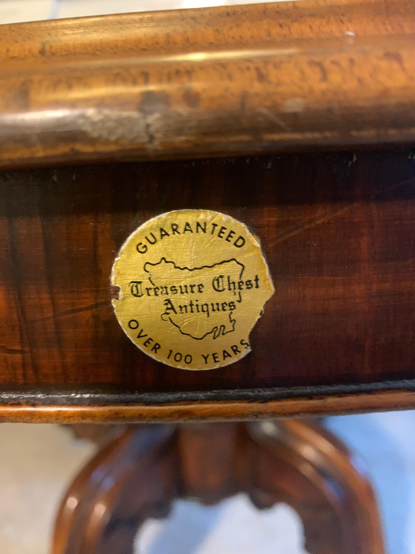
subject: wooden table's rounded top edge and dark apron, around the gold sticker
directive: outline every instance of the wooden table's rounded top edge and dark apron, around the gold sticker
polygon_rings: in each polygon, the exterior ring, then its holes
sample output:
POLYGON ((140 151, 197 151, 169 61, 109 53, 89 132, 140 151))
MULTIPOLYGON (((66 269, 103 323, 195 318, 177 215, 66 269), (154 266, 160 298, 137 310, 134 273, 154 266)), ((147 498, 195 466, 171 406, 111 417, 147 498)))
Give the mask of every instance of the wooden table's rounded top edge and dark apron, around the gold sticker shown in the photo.
POLYGON ((415 4, 305 0, 4 25, 0 420, 415 406, 415 4), (183 371, 113 314, 160 213, 229 214, 276 293, 252 352, 183 371))

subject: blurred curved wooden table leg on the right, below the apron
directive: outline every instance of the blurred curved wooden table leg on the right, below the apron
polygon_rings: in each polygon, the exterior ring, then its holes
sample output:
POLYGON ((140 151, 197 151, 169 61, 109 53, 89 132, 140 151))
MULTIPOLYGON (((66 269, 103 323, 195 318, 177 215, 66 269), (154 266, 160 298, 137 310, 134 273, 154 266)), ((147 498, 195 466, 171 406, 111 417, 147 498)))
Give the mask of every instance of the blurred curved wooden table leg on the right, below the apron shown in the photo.
POLYGON ((334 435, 299 419, 248 425, 247 483, 258 507, 283 501, 304 524, 310 554, 382 554, 369 480, 334 435))

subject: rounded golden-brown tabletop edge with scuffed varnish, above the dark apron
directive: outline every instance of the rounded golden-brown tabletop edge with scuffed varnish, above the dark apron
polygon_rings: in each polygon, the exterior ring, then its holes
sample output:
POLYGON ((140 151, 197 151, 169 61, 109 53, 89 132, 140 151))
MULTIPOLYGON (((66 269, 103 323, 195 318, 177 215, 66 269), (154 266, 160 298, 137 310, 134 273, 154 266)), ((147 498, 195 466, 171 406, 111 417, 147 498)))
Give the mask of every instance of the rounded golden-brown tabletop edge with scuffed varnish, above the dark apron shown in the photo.
POLYGON ((2 25, 0 165, 415 139, 411 0, 2 25))

